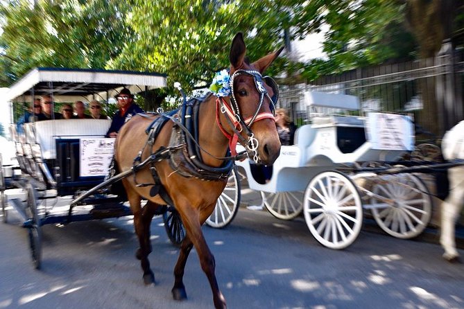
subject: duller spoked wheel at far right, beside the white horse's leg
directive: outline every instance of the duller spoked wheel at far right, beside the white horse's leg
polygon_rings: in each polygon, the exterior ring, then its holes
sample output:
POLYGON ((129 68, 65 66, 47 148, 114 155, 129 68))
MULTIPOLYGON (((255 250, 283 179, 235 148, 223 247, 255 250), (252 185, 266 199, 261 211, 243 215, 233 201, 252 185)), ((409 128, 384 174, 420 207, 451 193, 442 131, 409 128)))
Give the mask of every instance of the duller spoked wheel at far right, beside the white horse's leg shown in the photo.
POLYGON ((372 215, 379 227, 397 238, 414 238, 429 224, 432 200, 424 182, 417 176, 404 174, 386 176, 386 182, 375 184, 372 193, 385 202, 371 197, 372 215))

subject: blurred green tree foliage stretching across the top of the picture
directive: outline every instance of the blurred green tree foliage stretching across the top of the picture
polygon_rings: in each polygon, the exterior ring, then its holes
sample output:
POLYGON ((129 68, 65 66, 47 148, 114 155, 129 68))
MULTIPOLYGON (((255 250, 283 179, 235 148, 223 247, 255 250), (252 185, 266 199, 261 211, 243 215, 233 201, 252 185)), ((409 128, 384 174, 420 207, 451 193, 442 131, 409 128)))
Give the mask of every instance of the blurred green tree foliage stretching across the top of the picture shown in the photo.
MULTIPOLYGON (((285 77, 281 82, 287 84, 305 82, 417 57, 427 36, 427 30, 418 30, 427 29, 420 21, 433 20, 421 19, 420 8, 438 8, 437 1, 37 0, 35 6, 26 0, 3 1, 0 82, 9 85, 37 66, 133 69, 167 73, 168 93, 174 81, 189 92, 207 86, 214 72, 228 66, 230 40, 239 31, 255 60, 285 43, 284 30, 288 39, 298 40, 327 27, 326 59, 299 62, 284 54, 268 72, 285 77), (417 16, 409 26, 406 12, 417 16)), ((161 92, 157 98, 166 95, 161 92)))

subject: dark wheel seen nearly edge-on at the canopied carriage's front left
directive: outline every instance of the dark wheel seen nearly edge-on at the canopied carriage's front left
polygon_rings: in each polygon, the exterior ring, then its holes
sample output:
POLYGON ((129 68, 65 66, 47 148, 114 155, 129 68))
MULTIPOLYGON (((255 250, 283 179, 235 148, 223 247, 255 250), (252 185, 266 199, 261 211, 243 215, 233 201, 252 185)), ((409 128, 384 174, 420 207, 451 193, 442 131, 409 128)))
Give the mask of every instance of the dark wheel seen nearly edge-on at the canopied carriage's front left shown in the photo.
POLYGON ((40 224, 39 214, 37 212, 37 195, 31 184, 26 185, 27 192, 27 211, 29 220, 28 227, 29 246, 31 247, 31 256, 35 269, 40 269, 42 263, 42 227, 40 224))

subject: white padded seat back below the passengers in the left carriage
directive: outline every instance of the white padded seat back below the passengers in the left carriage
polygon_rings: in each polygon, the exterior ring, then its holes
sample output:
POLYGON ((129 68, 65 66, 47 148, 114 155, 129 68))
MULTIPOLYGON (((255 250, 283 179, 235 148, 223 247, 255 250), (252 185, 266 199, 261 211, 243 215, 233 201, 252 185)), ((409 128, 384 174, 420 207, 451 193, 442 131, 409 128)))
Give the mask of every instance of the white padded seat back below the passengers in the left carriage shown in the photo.
POLYGON ((55 159, 55 139, 105 137, 111 121, 109 119, 60 119, 37 121, 33 125, 35 125, 35 142, 42 149, 43 159, 55 159))

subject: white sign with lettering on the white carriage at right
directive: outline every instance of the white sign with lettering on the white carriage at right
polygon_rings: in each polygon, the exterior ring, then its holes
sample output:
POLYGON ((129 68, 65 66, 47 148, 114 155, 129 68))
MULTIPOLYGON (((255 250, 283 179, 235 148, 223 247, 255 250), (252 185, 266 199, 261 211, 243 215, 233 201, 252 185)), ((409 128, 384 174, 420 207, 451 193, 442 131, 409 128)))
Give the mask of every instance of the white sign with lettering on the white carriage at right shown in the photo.
POLYGON ((414 150, 414 124, 409 116, 369 113, 366 129, 372 149, 414 150))

